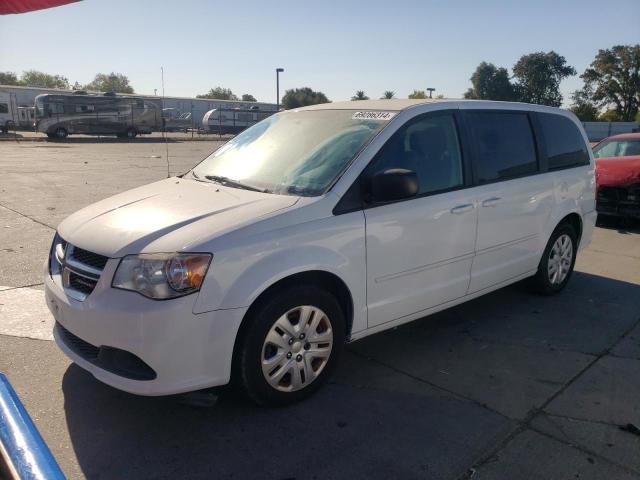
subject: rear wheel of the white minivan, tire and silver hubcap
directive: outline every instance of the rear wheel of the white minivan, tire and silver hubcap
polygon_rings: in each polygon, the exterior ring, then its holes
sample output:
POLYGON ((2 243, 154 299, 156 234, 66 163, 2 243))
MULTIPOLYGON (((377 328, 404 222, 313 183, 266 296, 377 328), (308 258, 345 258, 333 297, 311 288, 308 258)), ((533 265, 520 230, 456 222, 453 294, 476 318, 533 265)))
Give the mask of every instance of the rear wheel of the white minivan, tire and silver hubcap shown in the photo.
POLYGON ((532 278, 534 288, 543 295, 553 295, 562 290, 573 273, 578 251, 576 232, 569 224, 559 225, 551 234, 538 272, 532 278))

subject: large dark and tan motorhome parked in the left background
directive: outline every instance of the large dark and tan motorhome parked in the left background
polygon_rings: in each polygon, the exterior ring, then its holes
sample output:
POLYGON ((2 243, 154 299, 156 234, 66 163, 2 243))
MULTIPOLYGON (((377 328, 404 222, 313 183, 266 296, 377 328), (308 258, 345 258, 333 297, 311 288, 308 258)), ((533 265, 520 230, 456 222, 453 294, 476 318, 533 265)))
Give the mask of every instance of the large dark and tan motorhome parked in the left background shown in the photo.
POLYGON ((115 94, 46 94, 36 97, 36 130, 49 138, 73 133, 135 138, 162 129, 159 101, 115 94))

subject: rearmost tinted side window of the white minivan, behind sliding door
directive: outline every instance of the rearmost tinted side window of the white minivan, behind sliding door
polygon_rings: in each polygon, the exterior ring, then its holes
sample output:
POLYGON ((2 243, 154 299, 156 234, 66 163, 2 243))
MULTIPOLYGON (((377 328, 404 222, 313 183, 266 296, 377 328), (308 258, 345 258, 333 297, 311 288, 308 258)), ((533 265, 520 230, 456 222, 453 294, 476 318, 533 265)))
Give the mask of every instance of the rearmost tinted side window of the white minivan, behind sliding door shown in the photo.
POLYGON ((566 117, 538 113, 547 147, 549 170, 589 164, 587 146, 578 127, 566 117))

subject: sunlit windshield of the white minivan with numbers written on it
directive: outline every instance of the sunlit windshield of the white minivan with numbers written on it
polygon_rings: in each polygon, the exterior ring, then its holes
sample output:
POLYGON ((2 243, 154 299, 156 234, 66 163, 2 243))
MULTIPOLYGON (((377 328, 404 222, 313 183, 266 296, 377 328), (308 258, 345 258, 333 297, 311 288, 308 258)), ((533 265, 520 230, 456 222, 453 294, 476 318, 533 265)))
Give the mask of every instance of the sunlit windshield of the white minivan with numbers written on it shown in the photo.
POLYGON ((362 115, 351 110, 273 115, 230 140, 192 173, 231 187, 320 195, 388 123, 359 117, 362 115))

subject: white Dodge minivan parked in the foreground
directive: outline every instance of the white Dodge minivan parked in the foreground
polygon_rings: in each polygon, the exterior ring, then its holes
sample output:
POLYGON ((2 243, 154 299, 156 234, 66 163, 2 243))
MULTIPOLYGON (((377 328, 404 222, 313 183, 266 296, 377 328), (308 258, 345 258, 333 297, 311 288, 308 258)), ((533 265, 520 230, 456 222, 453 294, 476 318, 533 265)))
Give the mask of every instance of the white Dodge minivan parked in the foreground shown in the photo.
POLYGON ((345 342, 529 278, 556 293, 596 219, 576 117, 489 101, 273 115, 192 170, 60 223, 55 339, 116 388, 232 381, 299 400, 345 342))

